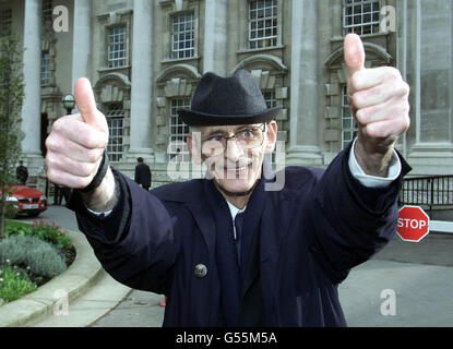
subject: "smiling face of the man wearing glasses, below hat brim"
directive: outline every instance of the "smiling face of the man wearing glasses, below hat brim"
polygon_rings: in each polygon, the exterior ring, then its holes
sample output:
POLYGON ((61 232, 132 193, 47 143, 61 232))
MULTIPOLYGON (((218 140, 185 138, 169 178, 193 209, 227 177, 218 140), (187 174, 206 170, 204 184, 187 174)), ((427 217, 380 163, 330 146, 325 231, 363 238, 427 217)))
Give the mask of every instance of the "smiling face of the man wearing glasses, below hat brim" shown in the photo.
POLYGON ((275 121, 266 124, 199 127, 188 139, 196 163, 204 163, 217 186, 231 195, 249 192, 261 176, 265 153, 275 146, 275 121))

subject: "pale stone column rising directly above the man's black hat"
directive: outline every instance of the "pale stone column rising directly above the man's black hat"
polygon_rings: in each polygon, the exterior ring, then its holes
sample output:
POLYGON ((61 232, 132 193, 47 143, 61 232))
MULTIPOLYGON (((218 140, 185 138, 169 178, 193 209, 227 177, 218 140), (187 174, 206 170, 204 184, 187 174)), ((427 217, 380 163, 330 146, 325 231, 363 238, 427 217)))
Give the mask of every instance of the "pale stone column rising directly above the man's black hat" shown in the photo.
POLYGON ((227 0, 205 1, 203 73, 226 76, 227 0))

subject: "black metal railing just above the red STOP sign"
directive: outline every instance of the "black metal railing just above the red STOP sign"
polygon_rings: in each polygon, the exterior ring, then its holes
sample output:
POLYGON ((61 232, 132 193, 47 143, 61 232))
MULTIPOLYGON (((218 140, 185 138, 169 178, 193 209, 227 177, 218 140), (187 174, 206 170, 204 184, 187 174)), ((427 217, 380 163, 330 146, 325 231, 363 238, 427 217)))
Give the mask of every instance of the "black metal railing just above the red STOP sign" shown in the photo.
POLYGON ((453 206, 453 174, 404 179, 400 205, 453 206))

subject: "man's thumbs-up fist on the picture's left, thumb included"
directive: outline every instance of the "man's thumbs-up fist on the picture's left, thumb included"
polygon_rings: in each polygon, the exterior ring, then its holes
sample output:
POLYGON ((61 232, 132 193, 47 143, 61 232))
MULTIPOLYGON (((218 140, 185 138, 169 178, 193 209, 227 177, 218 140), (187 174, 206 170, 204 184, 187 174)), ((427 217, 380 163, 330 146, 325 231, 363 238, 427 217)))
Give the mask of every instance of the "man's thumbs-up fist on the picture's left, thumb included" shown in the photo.
POLYGON ((108 144, 106 117, 96 108, 87 79, 79 79, 74 88, 80 113, 53 122, 46 140, 47 178, 73 189, 86 188, 95 177, 108 144))

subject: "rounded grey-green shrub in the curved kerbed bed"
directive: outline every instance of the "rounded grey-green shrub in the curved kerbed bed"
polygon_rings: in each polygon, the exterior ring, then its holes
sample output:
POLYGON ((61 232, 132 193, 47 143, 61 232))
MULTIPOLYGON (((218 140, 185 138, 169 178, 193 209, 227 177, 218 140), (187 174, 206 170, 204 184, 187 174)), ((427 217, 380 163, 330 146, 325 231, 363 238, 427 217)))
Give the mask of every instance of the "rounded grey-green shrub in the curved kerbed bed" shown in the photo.
POLYGON ((64 261, 55 248, 36 238, 22 234, 11 236, 0 242, 0 263, 28 266, 31 272, 53 277, 67 269, 64 261))

